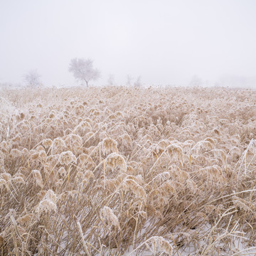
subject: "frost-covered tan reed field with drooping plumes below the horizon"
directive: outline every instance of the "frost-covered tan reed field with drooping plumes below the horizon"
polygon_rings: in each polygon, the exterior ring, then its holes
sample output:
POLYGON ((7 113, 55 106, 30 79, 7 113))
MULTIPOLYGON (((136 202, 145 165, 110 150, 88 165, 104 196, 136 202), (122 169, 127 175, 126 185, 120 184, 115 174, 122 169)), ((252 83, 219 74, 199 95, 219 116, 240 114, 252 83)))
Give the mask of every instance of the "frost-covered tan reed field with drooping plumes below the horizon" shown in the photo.
POLYGON ((255 91, 0 96, 0 255, 253 252, 255 91))

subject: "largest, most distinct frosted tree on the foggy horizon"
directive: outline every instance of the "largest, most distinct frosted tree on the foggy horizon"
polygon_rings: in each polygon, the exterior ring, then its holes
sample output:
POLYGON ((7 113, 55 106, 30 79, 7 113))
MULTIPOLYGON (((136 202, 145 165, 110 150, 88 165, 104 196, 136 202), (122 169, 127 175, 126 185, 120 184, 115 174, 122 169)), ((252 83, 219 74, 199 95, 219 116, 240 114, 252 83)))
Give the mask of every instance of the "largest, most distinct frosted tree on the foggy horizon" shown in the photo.
POLYGON ((100 71, 93 68, 93 62, 90 59, 73 58, 70 60, 68 68, 70 73, 73 73, 76 80, 85 82, 87 87, 91 80, 97 80, 100 78, 100 71))

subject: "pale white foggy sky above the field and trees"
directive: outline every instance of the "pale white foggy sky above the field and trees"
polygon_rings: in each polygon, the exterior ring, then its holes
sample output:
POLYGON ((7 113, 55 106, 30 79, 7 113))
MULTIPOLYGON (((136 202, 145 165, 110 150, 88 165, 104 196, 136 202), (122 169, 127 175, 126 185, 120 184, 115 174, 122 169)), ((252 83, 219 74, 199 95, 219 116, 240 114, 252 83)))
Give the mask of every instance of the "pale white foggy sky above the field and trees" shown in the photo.
POLYGON ((71 58, 125 84, 187 84, 193 75, 256 76, 255 0, 0 0, 0 82, 36 69, 75 85, 71 58))

